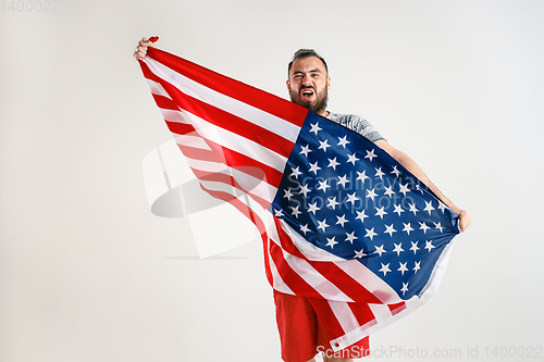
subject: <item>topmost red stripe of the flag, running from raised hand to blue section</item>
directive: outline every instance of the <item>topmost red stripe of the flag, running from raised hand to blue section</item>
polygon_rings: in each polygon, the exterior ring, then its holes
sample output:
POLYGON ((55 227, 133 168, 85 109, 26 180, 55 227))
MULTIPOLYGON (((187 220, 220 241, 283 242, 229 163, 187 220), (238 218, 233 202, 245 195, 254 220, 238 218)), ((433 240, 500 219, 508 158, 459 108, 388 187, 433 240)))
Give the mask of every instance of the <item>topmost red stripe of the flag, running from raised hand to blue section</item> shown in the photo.
MULTIPOLYGON (((230 78, 183 58, 170 54, 157 48, 148 49, 148 57, 166 65, 174 72, 220 93, 256 107, 264 112, 301 126, 308 110, 283 98, 230 78)), ((140 60, 140 63, 144 61, 140 60)))

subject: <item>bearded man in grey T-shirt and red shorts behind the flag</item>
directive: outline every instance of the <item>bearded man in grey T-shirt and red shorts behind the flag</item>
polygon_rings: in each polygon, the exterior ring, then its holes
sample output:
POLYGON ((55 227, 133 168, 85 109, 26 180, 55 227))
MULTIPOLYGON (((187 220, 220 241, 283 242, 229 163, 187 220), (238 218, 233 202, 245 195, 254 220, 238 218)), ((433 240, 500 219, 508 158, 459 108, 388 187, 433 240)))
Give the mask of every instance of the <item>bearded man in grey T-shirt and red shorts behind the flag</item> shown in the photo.
MULTIPOLYGON (((141 39, 134 55, 144 58, 150 46, 152 46, 152 42, 146 38, 141 39)), ((336 114, 326 110, 331 78, 329 77, 326 62, 318 53, 311 49, 297 51, 293 61, 288 64, 286 84, 293 102, 339 123, 374 142, 423 182, 446 205, 459 215, 461 232, 470 225, 471 215, 449 201, 408 155, 393 148, 374 130, 372 125, 359 116, 336 114)), ((285 295, 276 290, 274 290, 274 302, 284 361, 311 362, 314 361, 317 352, 324 352, 324 361, 347 362, 351 361, 350 358, 363 357, 363 351, 369 350, 369 339, 367 337, 344 350, 332 353, 330 340, 339 336, 330 333, 332 330, 330 326, 335 323, 335 315, 331 305, 341 302, 285 295), (358 351, 358 353, 353 353, 353 351, 358 351)), ((351 303, 350 308, 358 320, 369 322, 373 320, 368 305, 351 303)))

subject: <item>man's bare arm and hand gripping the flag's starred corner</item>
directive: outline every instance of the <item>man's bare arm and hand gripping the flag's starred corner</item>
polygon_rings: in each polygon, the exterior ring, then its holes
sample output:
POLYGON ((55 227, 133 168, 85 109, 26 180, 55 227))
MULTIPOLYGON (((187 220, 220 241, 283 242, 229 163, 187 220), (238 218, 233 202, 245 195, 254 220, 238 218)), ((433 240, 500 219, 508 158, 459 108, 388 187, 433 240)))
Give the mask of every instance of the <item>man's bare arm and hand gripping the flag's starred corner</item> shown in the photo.
POLYGON ((386 151, 392 158, 398 161, 406 170, 411 172, 416 177, 418 177, 426 187, 429 187, 453 212, 459 215, 459 228, 465 232, 472 222, 472 215, 458 207, 456 207, 442 191, 426 177, 424 172, 408 154, 397 150, 391 146, 386 140, 380 139, 375 141, 375 145, 386 151))

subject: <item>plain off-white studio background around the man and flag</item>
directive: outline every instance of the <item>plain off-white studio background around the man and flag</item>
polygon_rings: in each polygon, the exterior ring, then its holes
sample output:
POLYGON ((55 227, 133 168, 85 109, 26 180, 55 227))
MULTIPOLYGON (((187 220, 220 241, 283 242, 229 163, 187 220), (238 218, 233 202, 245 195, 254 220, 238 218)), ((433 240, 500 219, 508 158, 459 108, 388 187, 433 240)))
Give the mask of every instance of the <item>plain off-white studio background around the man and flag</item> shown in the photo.
POLYGON ((293 52, 316 48, 330 109, 371 121, 472 212, 438 294, 374 349, 459 361, 514 346, 498 360, 518 361, 544 347, 543 1, 11 2, 0 361, 280 361, 261 245, 198 260, 186 221, 149 211, 141 161, 170 139, 132 58, 151 35, 281 97, 293 52))

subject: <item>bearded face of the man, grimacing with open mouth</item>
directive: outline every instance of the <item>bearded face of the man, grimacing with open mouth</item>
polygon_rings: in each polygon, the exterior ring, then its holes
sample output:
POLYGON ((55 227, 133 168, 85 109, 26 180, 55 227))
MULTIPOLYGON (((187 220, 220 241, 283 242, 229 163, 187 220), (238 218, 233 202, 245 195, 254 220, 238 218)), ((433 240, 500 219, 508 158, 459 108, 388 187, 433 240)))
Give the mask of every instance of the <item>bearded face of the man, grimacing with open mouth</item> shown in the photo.
POLYGON ((289 71, 287 88, 290 101, 312 112, 326 115, 327 90, 331 78, 317 57, 297 59, 289 71))

